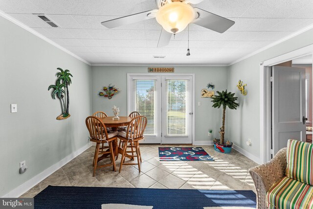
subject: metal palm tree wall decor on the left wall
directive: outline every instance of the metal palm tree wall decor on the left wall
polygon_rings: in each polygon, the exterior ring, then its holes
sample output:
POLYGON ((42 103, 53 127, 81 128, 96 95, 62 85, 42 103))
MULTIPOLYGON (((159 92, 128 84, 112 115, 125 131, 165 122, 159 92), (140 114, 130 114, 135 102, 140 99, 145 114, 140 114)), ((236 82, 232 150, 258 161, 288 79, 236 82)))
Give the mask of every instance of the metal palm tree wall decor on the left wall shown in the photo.
POLYGON ((70 77, 73 77, 72 74, 69 73, 69 70, 62 70, 61 68, 57 68, 60 70, 57 75, 57 80, 55 85, 50 85, 48 87, 48 91, 53 89, 52 98, 55 99, 55 95, 61 100, 61 108, 62 114, 57 116, 57 120, 66 119, 69 117, 68 109, 69 109, 69 93, 68 86, 72 83, 70 77), (66 91, 65 91, 66 90, 66 91))

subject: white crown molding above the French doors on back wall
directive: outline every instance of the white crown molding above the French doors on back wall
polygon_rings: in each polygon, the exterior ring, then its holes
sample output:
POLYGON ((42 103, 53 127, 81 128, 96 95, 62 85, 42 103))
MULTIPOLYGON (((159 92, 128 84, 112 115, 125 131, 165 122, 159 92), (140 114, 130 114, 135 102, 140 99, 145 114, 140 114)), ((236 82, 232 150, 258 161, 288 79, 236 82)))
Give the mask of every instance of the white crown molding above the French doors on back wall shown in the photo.
POLYGON ((153 63, 146 63, 146 64, 91 64, 91 66, 131 66, 131 67, 148 67, 148 66, 156 66, 156 67, 228 67, 228 64, 153 64, 153 63))

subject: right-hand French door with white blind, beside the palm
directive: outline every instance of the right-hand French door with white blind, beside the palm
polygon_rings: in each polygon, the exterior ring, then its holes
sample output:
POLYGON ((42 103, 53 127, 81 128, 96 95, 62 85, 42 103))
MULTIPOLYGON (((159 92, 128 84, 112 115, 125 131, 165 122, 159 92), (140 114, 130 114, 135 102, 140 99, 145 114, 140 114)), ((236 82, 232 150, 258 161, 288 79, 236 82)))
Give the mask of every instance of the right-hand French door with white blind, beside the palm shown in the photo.
POLYGON ((192 76, 162 76, 162 143, 192 143, 192 76))

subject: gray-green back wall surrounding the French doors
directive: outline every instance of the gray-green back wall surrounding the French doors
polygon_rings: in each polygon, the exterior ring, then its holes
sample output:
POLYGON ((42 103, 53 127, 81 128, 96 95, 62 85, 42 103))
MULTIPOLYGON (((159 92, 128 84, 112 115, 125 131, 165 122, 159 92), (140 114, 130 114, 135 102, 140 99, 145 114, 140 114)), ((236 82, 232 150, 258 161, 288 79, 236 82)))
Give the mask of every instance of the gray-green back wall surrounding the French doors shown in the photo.
MULTIPOLYGON (((127 115, 127 73, 147 72, 148 66, 92 66, 92 112, 104 111, 112 116, 112 107, 116 105, 120 108, 120 115, 127 115), (114 95, 112 99, 100 97, 99 91, 110 83, 118 87, 121 92, 114 95)), ((213 82, 215 83, 214 91, 225 90, 227 88, 227 67, 175 67, 175 73, 195 73, 195 140, 209 140, 208 129, 213 130, 213 138, 218 138, 218 131, 222 124, 222 110, 212 108, 210 98, 201 98, 201 89, 205 89, 209 82, 213 82), (201 102, 201 106, 198 106, 198 102, 201 102)))

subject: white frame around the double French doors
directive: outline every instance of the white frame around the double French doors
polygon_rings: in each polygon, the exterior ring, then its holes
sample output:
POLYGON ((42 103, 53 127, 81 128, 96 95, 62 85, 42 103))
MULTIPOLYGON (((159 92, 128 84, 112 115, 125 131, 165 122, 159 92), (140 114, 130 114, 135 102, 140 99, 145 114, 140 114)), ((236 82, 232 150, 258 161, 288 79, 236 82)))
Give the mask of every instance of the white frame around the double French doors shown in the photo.
MULTIPOLYGON (((191 137, 192 137, 192 144, 195 144, 195 73, 157 73, 157 72, 149 72, 149 73, 127 73, 127 114, 130 114, 131 109, 131 95, 128 93, 129 91, 129 80, 131 76, 192 76, 192 119, 191 119, 191 137)), ((162 99, 160 100, 160 103, 162 102, 162 99)), ((160 118, 161 118, 161 112, 160 112, 160 118)), ((160 119, 161 121, 161 119, 160 119)), ((161 127, 162 128, 162 127, 161 127)), ((161 141, 162 144, 162 141, 161 141)))

